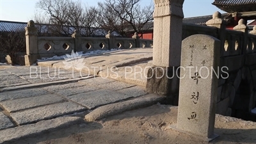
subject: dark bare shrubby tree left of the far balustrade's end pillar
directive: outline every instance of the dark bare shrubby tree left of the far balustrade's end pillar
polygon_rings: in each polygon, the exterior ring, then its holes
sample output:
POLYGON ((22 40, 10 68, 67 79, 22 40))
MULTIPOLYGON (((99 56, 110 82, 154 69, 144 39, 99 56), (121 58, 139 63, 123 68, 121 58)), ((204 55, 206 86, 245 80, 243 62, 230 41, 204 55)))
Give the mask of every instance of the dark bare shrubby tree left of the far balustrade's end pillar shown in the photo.
POLYGON ((6 53, 12 60, 12 65, 19 64, 16 61, 17 52, 25 52, 25 32, 2 32, 0 35, 0 52, 6 53))

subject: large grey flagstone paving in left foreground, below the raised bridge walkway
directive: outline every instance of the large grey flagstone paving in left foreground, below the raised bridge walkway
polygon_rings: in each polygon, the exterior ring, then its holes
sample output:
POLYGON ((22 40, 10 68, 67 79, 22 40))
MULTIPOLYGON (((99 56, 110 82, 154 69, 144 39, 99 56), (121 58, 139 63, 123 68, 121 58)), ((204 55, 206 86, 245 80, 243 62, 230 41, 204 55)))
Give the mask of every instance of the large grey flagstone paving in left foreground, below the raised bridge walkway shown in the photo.
POLYGON ((69 117, 84 118, 100 106, 111 104, 111 115, 115 115, 129 110, 130 105, 131 108, 140 108, 140 105, 149 106, 163 99, 146 93, 136 84, 70 70, 60 71, 53 67, 0 66, 0 143, 40 134, 73 124, 73 121, 82 122, 83 119, 69 117), (121 110, 115 111, 115 104, 121 110), (49 125, 51 122, 56 124, 49 125), (26 132, 20 132, 24 129, 26 132), (13 131, 20 133, 12 135, 13 131))

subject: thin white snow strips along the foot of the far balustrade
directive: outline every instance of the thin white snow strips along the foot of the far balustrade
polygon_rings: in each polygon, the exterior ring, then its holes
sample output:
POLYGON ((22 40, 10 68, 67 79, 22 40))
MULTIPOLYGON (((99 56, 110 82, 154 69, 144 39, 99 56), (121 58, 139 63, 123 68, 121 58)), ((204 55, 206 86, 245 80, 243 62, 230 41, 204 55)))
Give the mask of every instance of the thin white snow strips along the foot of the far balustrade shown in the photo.
MULTIPOLYGON (((77 52, 79 54, 79 56, 90 56, 93 54, 102 54, 105 52, 111 52, 111 51, 118 51, 120 49, 110 49, 110 50, 95 50, 95 51, 88 51, 86 53, 83 53, 83 51, 77 52)), ((63 60, 64 58, 67 58, 67 55, 63 55, 63 56, 53 56, 52 58, 42 58, 39 61, 49 61, 49 60, 63 60)))

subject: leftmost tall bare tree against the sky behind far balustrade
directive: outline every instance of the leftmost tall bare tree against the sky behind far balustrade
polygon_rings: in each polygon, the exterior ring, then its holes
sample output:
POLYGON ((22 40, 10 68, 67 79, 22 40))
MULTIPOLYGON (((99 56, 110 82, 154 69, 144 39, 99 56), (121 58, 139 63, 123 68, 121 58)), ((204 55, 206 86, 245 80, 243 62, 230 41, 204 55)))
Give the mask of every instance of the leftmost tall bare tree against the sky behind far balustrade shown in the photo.
POLYGON ((54 25, 52 31, 58 31, 60 35, 70 35, 74 29, 79 32, 86 29, 84 35, 93 35, 95 8, 83 6, 81 1, 40 0, 36 3, 36 8, 45 12, 49 23, 54 25))

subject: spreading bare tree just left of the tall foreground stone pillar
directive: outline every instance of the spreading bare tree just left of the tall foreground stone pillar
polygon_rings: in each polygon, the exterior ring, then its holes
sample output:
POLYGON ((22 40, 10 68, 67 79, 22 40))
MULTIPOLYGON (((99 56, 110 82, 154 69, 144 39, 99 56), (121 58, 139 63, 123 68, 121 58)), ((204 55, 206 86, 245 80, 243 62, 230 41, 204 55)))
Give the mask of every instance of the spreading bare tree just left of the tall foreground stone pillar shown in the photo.
POLYGON ((127 36, 131 31, 143 32, 153 20, 153 4, 141 8, 141 0, 105 0, 98 3, 97 22, 108 30, 127 36))

